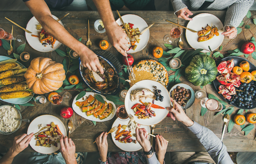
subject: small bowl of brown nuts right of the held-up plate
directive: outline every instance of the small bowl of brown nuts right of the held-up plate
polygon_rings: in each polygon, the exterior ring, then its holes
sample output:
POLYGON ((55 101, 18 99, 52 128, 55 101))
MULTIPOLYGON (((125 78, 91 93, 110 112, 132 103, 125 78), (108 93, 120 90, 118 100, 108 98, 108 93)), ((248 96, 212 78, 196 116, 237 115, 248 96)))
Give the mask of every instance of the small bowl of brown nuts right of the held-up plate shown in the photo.
POLYGON ((179 83, 171 87, 169 94, 171 96, 172 91, 174 92, 174 100, 182 107, 183 110, 188 109, 194 103, 194 91, 186 84, 179 83))

